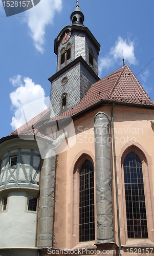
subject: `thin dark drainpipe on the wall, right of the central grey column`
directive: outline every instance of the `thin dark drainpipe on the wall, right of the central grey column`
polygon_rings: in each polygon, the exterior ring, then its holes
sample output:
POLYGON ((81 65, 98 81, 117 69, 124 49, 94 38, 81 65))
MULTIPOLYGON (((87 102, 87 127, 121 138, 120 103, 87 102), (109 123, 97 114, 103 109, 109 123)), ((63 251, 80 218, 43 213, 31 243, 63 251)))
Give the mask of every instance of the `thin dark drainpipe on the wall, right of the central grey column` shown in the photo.
POLYGON ((111 118, 112 118, 113 150, 114 150, 114 165, 115 165, 115 183, 116 183, 116 203, 117 203, 119 255, 121 256, 121 237, 120 237, 119 201, 118 201, 117 164, 116 164, 116 147, 115 147, 114 115, 113 115, 114 106, 115 106, 115 103, 113 103, 113 107, 112 107, 112 111, 111 111, 111 118))

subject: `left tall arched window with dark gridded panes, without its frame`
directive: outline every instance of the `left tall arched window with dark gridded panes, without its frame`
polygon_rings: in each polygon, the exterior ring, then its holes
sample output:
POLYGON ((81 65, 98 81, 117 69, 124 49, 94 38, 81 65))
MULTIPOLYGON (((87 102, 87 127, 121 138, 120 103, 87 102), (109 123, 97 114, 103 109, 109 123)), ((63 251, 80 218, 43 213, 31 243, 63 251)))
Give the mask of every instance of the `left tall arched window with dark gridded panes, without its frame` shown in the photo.
POLYGON ((79 203, 79 241, 95 240, 94 167, 86 160, 81 167, 79 203))

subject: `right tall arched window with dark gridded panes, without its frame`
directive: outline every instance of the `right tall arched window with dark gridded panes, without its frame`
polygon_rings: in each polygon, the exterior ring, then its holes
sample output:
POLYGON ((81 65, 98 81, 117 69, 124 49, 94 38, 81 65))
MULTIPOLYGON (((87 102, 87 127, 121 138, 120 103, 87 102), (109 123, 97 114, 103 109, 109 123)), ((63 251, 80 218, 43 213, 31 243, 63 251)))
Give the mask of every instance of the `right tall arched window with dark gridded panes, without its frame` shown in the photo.
POLYGON ((148 238, 141 160, 130 152, 123 166, 128 238, 148 238))

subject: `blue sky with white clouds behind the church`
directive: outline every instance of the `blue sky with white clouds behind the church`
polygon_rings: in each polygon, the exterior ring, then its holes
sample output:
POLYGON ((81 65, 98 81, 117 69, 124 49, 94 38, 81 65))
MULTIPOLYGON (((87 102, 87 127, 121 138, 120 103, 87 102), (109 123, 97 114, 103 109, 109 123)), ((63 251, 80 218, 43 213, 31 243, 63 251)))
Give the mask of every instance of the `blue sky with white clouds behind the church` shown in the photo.
MULTIPOLYGON (((1 0, 0 0, 1 1, 1 0)), ((0 2, 0 137, 14 130, 14 113, 33 100, 50 96, 48 78, 56 72, 54 39, 71 24, 76 0, 41 0, 34 8, 6 17, 0 2), (13 118, 13 119, 12 119, 13 118), (11 125, 12 123, 12 125, 11 125)), ((154 57, 153 0, 79 0, 88 27, 101 45, 100 78, 125 64, 137 75, 154 57)), ((154 59, 137 76, 154 101, 154 59)), ((30 108, 36 115, 42 109, 30 108)))

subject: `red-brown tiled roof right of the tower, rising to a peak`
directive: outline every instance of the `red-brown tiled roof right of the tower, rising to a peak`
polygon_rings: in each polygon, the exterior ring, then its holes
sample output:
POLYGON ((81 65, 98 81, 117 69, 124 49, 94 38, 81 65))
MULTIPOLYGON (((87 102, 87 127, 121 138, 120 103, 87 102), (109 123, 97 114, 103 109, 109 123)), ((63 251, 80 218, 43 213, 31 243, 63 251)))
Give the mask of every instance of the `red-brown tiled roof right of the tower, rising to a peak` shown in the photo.
POLYGON ((142 105, 154 105, 154 102, 147 95, 133 72, 128 66, 123 66, 94 83, 74 108, 60 115, 73 116, 102 99, 142 105))

